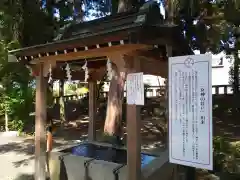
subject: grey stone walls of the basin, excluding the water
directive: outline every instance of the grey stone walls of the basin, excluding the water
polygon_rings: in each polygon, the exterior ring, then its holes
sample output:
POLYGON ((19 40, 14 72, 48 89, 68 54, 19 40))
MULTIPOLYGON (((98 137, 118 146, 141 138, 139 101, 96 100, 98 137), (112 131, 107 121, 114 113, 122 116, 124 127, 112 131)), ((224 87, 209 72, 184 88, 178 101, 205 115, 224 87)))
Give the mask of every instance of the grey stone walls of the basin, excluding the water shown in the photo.
MULTIPOLYGON (((70 153, 52 152, 49 165, 51 180, 127 180, 125 164, 70 153)), ((159 152, 159 156, 142 167, 142 179, 158 180, 160 176, 161 180, 167 180, 174 167, 175 165, 168 162, 168 152, 159 152)))

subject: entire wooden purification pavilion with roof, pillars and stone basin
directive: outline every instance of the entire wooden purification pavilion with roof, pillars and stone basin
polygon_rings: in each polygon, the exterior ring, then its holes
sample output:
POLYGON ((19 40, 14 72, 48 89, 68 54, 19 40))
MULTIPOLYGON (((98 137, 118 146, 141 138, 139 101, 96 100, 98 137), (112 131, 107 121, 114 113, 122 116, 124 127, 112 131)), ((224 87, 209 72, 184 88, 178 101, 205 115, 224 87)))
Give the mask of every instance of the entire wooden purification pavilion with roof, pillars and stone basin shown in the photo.
POLYGON ((180 28, 165 24, 154 3, 138 11, 72 24, 59 40, 11 51, 9 61, 16 59, 36 73, 35 179, 46 176, 47 78, 89 83, 88 141, 52 152, 51 179, 169 179, 174 165, 168 162, 168 149, 155 154, 141 152, 140 106, 127 105, 126 148, 95 141, 96 81, 106 71, 110 74, 112 65, 119 72, 167 77, 168 56, 189 53, 180 28))

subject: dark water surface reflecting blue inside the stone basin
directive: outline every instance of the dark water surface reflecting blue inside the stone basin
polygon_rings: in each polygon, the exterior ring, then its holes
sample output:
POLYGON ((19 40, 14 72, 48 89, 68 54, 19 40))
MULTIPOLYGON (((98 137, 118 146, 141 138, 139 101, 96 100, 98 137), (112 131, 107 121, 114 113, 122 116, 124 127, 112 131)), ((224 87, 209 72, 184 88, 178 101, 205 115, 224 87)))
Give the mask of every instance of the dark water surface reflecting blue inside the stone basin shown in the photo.
MULTIPOLYGON (((65 149, 62 152, 71 153, 76 156, 84 156, 97 160, 114 162, 118 164, 127 164, 127 151, 124 149, 84 143, 69 149, 65 149)), ((156 156, 141 153, 142 167, 150 163, 155 158, 156 156)))

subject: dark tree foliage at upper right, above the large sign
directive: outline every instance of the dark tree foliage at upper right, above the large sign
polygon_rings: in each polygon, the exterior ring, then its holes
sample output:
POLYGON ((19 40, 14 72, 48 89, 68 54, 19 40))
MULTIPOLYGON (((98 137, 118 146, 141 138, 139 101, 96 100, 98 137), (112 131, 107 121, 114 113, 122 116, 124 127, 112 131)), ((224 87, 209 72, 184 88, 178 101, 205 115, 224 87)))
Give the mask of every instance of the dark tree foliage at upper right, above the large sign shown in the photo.
POLYGON ((234 94, 239 94, 240 1, 169 0, 166 11, 171 15, 168 21, 185 31, 193 50, 201 53, 225 51, 234 57, 230 74, 234 94))

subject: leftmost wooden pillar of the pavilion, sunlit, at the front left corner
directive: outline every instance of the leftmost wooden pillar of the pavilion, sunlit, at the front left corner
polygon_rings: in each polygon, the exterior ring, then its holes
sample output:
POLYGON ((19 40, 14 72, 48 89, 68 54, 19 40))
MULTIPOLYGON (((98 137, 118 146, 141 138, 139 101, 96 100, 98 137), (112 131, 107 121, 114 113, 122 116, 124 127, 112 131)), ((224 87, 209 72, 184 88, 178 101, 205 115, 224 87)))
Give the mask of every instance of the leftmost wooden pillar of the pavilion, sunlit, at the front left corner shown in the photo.
POLYGON ((46 180, 46 82, 43 76, 43 64, 38 65, 36 77, 35 102, 35 180, 46 180))

